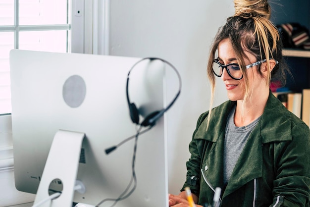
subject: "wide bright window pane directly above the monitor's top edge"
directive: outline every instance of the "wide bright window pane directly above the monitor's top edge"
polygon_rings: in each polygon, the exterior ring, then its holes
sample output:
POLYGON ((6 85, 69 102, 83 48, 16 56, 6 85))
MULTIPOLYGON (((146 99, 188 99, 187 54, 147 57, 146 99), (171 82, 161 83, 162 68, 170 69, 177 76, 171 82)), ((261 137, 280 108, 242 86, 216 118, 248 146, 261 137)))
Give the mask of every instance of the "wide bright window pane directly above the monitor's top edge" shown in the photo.
POLYGON ((46 52, 67 52, 67 31, 20 32, 19 49, 46 52))

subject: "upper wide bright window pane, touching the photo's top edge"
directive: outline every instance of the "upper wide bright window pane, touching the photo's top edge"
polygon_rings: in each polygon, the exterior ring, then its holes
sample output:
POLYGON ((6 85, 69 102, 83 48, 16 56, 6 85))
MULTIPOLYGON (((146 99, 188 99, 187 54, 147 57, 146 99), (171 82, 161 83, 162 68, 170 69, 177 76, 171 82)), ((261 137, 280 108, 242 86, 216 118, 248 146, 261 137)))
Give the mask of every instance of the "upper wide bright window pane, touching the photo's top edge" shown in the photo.
POLYGON ((20 25, 67 23, 67 0, 19 0, 20 25))

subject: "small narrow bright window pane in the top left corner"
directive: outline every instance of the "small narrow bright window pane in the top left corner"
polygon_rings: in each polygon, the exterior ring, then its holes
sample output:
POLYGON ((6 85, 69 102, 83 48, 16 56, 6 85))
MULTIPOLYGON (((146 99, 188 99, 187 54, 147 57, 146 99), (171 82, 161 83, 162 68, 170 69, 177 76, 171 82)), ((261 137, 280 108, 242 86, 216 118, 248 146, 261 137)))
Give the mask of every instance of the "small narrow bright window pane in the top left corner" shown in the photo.
POLYGON ((0 25, 14 25, 14 0, 0 0, 0 25))

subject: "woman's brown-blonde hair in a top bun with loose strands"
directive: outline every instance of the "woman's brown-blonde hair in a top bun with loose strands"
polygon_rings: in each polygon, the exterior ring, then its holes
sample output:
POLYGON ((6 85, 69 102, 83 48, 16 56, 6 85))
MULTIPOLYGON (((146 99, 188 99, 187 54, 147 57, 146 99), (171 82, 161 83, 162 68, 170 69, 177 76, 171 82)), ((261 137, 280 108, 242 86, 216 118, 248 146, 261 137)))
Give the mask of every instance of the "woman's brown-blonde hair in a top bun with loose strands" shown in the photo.
MULTIPOLYGON (((268 75, 267 84, 273 80, 279 80, 285 84, 286 71, 289 71, 282 56, 282 42, 277 28, 269 20, 271 9, 267 0, 234 0, 235 14, 228 17, 226 24, 221 27, 215 36, 207 63, 207 76, 211 84, 211 99, 207 126, 211 117, 212 104, 215 91, 215 77, 213 74, 213 60, 219 43, 224 39, 229 39, 236 54, 237 62, 241 68, 245 79, 244 100, 251 99, 249 78, 246 73, 244 58, 245 51, 256 56, 257 60, 266 59, 268 75), (270 68, 269 59, 279 62, 273 70, 270 68)), ((263 74, 258 67, 258 73, 263 74)), ((242 110, 243 111, 243 110, 242 110)), ((243 116, 243 112, 242 112, 243 116)))

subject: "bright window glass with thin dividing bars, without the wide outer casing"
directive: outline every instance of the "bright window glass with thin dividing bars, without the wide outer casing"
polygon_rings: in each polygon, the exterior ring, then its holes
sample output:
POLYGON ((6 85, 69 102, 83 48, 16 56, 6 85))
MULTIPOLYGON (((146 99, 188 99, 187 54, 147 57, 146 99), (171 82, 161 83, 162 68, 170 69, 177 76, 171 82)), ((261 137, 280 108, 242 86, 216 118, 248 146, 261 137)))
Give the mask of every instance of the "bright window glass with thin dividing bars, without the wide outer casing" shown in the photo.
POLYGON ((0 114, 11 113, 10 50, 71 52, 70 14, 71 0, 0 0, 0 114))

